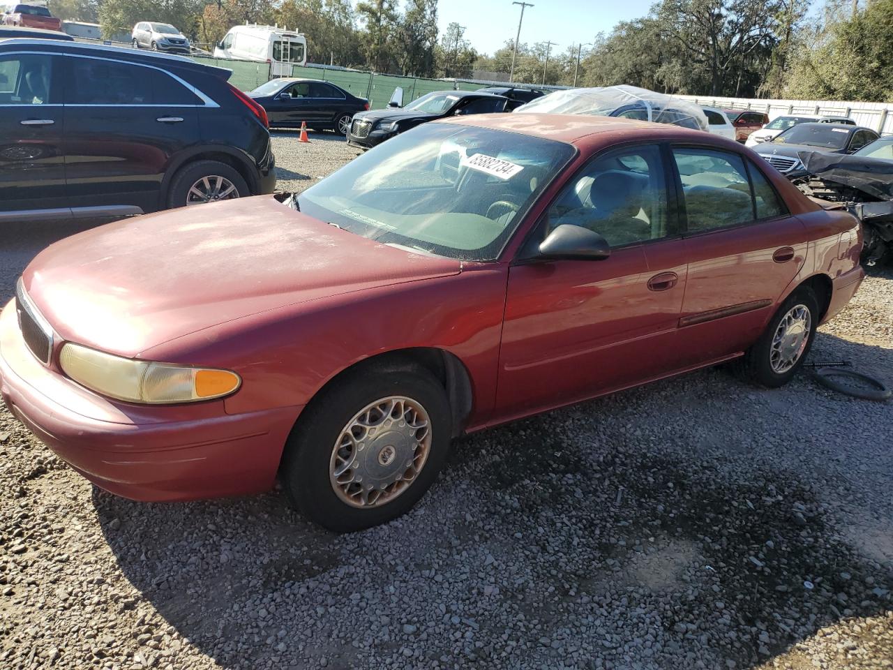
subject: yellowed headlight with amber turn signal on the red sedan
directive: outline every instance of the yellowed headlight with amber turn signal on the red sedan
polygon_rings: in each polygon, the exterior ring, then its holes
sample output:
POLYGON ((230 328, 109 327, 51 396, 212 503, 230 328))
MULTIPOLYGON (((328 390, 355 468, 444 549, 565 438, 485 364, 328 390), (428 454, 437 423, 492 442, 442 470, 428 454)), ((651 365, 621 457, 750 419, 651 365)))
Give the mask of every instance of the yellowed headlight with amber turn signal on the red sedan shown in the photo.
POLYGON ((242 380, 229 370, 137 361, 67 342, 59 355, 63 372, 110 398, 150 405, 222 398, 242 380))

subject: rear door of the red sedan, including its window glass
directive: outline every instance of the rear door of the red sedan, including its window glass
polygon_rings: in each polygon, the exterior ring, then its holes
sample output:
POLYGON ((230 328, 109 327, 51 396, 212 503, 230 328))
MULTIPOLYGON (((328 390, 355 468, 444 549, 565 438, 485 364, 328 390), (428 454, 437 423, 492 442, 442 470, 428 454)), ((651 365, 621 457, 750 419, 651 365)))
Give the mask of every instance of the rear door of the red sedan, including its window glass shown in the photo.
POLYGON ((680 318, 683 363, 744 351, 805 262, 803 224, 759 167, 706 147, 676 147, 689 276, 680 318))

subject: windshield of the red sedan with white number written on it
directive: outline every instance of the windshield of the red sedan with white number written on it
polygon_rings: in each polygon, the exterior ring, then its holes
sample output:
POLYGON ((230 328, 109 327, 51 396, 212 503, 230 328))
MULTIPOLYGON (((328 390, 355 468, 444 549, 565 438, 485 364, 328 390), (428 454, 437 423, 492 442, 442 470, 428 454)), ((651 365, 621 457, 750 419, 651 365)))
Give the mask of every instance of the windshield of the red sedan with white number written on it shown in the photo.
POLYGON ((296 204, 383 244, 486 261, 573 155, 572 145, 550 139, 426 123, 355 158, 296 204))

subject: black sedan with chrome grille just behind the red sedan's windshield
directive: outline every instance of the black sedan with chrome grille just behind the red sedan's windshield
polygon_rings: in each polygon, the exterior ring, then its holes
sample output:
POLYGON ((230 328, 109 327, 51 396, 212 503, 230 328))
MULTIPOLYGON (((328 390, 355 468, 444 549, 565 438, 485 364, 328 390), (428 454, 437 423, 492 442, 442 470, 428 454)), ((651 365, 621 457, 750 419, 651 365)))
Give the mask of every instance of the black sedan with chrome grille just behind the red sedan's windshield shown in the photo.
POLYGON ((347 134, 348 144, 369 149, 425 121, 458 114, 505 112, 505 96, 480 91, 435 91, 402 109, 388 106, 357 114, 347 134))

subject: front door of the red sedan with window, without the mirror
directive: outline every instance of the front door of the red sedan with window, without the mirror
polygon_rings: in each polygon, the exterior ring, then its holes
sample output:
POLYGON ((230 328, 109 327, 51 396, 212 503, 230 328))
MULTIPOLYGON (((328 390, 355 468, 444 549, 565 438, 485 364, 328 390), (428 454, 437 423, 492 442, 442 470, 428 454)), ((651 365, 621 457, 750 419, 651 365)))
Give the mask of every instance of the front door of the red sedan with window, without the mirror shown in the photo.
POLYGON ((686 261, 664 174, 658 147, 624 148, 590 161, 555 199, 533 247, 548 230, 572 224, 603 235, 612 253, 511 267, 496 421, 677 367, 686 261))

